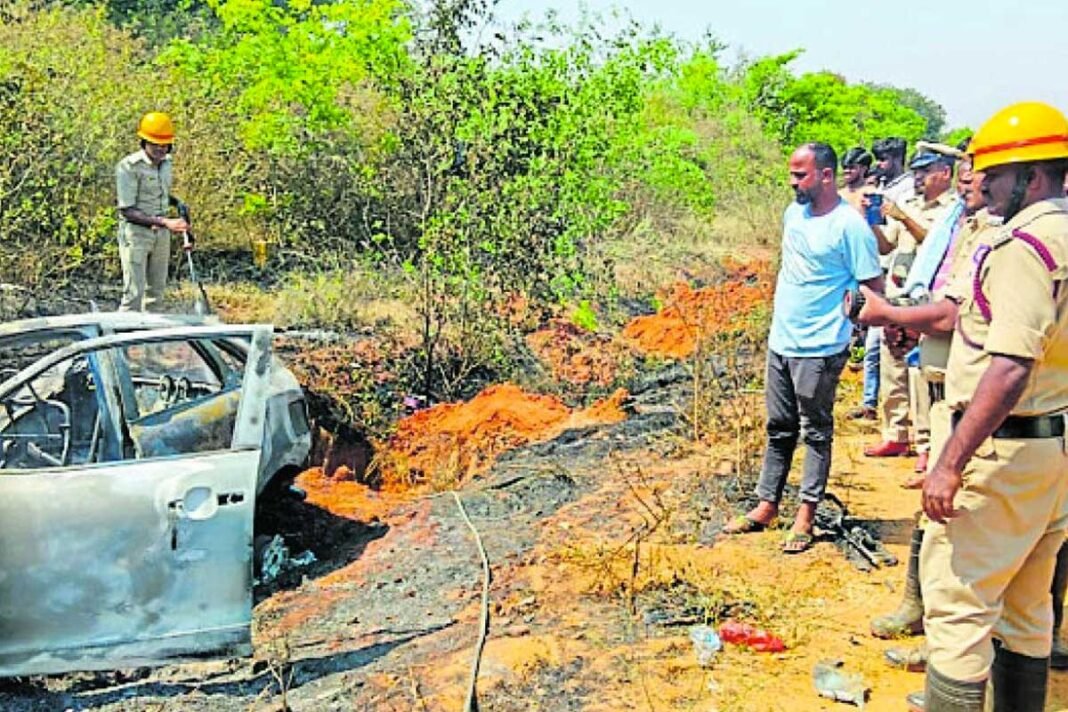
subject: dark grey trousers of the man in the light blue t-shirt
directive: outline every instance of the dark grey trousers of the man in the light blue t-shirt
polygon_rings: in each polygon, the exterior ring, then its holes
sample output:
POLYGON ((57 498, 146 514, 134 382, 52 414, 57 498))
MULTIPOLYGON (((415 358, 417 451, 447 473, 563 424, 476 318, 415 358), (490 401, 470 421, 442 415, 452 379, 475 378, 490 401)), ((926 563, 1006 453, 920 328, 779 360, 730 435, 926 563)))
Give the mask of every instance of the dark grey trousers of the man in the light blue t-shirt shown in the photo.
POLYGON ((765 502, 783 499, 798 438, 807 449, 801 474, 801 501, 819 503, 831 474, 834 438, 834 395, 849 357, 848 349, 830 357, 795 359, 768 351, 765 402, 768 407, 768 446, 756 484, 765 502))

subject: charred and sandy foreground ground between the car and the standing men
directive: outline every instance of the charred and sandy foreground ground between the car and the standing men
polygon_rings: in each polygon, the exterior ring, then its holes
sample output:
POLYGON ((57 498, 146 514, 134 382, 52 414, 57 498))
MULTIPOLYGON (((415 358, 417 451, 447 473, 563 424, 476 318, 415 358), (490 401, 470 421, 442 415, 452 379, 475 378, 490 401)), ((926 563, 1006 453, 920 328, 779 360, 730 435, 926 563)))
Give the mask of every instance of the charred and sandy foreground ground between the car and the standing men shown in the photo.
MULTIPOLYGON (((646 373, 628 420, 517 448, 460 488, 493 572, 482 709, 839 709, 812 689, 827 658, 865 677, 869 710, 899 710, 922 685, 888 670, 893 644, 866 632, 896 604, 902 567, 858 572, 831 542, 785 557, 779 528, 717 538, 752 473, 729 465, 729 446, 693 443, 692 385, 680 366, 646 373), (728 647, 702 668, 689 628, 726 618, 766 627, 787 652, 728 647)), ((902 556, 915 506, 896 482, 911 462, 863 460, 870 437, 839 428, 831 490, 902 556)), ((0 709, 461 709, 482 594, 473 538, 449 493, 380 504, 365 516, 265 503, 257 535, 317 560, 257 588, 252 658, 9 680, 0 709)), ((1053 677, 1049 709, 1066 682, 1053 677)))

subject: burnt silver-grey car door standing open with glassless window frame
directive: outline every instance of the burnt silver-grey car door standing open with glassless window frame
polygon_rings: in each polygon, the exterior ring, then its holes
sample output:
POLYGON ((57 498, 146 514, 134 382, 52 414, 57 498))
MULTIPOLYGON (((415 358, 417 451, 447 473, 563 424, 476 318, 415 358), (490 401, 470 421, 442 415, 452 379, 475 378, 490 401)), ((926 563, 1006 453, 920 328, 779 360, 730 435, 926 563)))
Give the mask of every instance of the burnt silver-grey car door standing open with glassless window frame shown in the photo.
POLYGON ((250 651, 270 346, 269 327, 108 335, 63 348, 0 384, 0 404, 16 421, 36 417, 0 431, 5 452, 38 456, 13 456, 0 469, 0 676, 250 651), (139 346, 220 337, 250 344, 232 437, 206 450, 190 452, 183 440, 139 452, 129 422, 114 412, 128 407, 123 394, 130 390, 117 364, 139 346), (84 376, 78 364, 88 354, 96 368, 84 376), (101 455, 95 436, 83 443, 69 434, 79 426, 64 399, 87 387, 98 397, 82 402, 108 409, 95 417, 126 441, 116 461, 101 455))

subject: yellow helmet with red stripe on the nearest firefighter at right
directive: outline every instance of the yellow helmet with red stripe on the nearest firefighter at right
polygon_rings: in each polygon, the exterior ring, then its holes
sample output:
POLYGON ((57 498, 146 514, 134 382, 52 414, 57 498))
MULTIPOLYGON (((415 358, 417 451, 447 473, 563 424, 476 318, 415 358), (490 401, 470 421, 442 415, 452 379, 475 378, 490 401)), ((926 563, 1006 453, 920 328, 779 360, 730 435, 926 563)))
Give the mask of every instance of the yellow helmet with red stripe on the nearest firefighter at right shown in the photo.
POLYGON ((1005 107, 985 123, 968 146, 973 169, 1068 158, 1068 118, 1040 101, 1005 107))

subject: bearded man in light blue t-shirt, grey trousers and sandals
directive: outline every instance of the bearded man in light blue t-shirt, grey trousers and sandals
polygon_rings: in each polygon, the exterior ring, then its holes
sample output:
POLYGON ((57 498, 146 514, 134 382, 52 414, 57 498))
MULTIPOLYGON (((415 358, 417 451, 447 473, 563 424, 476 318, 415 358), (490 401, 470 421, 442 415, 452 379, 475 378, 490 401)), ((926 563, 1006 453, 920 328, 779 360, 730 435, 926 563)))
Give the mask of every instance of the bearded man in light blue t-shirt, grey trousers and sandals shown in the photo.
POLYGON ((875 235, 838 195, 837 168, 837 156, 823 143, 804 144, 790 156, 797 202, 783 218, 782 265, 768 337, 768 445, 756 486, 760 503, 725 528, 728 534, 760 531, 779 515, 794 449, 803 438, 807 452, 801 506, 783 544, 787 553, 812 545, 816 506, 831 472, 832 409, 852 332, 843 296, 858 284, 882 291, 875 235))

